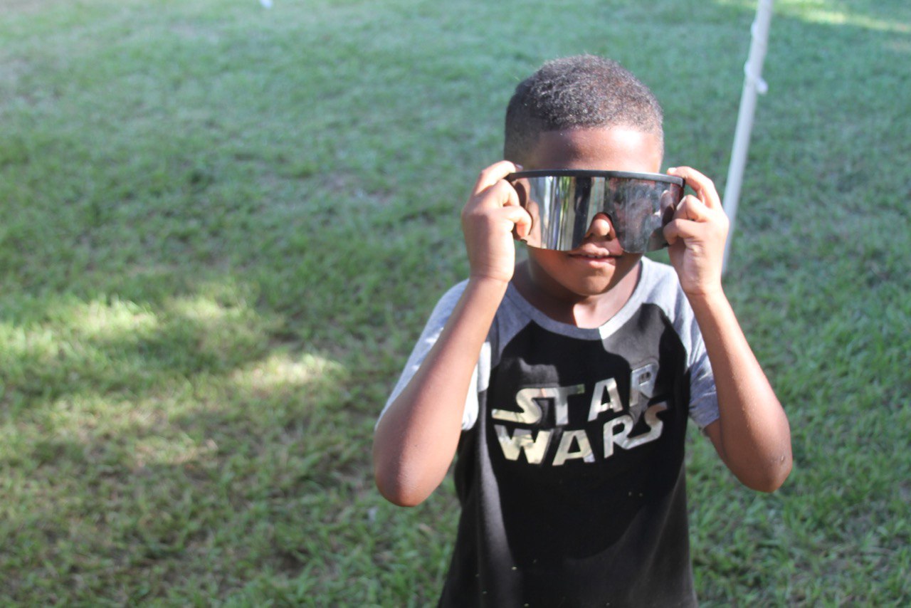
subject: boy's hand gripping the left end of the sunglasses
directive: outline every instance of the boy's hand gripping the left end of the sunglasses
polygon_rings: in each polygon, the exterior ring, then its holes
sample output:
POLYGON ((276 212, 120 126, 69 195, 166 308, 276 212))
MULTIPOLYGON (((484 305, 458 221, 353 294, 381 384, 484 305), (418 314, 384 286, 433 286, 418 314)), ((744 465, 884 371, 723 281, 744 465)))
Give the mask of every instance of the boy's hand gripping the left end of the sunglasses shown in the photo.
POLYGON ((516 266, 513 234, 524 239, 531 229, 531 216, 519 206, 516 189, 505 179, 518 170, 517 165, 501 160, 481 171, 462 210, 472 278, 503 283, 512 278, 516 266))

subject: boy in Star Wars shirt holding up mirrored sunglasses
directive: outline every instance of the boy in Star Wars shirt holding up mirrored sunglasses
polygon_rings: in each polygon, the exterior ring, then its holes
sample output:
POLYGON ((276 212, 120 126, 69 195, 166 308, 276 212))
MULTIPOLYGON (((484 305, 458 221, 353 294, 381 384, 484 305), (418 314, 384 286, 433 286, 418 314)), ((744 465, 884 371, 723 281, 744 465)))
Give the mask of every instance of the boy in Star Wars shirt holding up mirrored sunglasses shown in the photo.
POLYGON ((657 172, 661 110, 614 62, 569 57, 519 84, 505 156, 462 212, 469 278, 437 304, 377 423, 384 497, 415 505, 457 453, 462 506, 442 605, 694 605, 683 445, 691 417, 725 465, 773 491, 787 418, 721 283, 727 219, 686 180, 672 268, 624 252, 599 213, 568 252, 514 235, 522 170, 657 172))

